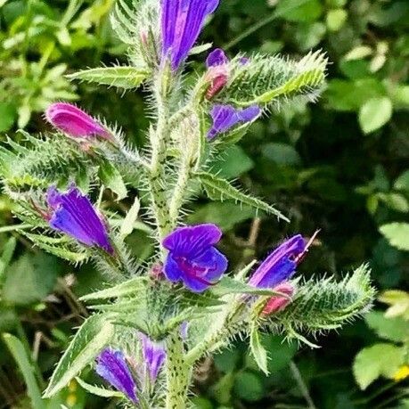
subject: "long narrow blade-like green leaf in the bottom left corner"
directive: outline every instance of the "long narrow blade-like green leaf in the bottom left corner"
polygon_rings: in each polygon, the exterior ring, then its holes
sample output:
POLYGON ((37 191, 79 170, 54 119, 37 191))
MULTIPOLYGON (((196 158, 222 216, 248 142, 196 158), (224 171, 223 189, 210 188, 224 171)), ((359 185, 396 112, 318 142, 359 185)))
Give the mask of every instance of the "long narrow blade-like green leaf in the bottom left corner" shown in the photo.
POLYGON ((20 368, 20 372, 27 385, 27 393, 31 401, 31 407, 34 409, 45 409, 45 401, 41 398, 34 366, 22 342, 11 334, 3 334, 3 339, 14 358, 14 361, 20 368))

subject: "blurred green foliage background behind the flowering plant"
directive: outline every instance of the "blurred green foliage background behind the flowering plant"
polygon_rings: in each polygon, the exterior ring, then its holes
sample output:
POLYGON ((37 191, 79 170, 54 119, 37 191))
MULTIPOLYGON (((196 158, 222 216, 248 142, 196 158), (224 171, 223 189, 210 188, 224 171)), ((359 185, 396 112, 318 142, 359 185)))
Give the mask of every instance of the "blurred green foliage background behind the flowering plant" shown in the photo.
MULTIPOLYGON (((3 140, 18 140, 19 127, 45 132, 43 111, 64 100, 117 122, 129 140, 143 145, 148 123, 143 92, 117 94, 64 78, 125 61, 126 47, 110 28, 113 4, 0 0, 3 140)), ((266 337, 269 377, 258 372, 246 342, 237 342, 200 364, 195 405, 409 408, 409 2, 222 0, 202 41, 231 55, 261 50, 298 57, 322 48, 331 65, 317 103, 296 102, 258 121, 216 165, 224 176, 240 178, 249 191, 275 203, 290 216, 290 225, 203 198, 192 205, 189 222, 221 225, 233 263, 262 258, 282 237, 308 236, 319 228, 319 243, 299 274, 341 276, 366 260, 380 302, 365 320, 317 339, 321 349, 298 349, 266 337)), ((204 58, 195 56, 192 67, 203 70, 204 58)), ((126 206, 112 205, 118 211, 126 206)), ((102 285, 93 266, 76 269, 33 249, 15 233, 15 223, 12 203, 0 196, 0 332, 16 335, 23 346, 16 348, 8 335, 0 342, 0 408, 34 407, 30 382, 44 384, 73 327, 86 316, 78 297, 102 285), (37 380, 24 371, 24 364, 33 362, 37 380)), ((141 226, 129 241, 135 255, 150 257, 148 229, 141 226)), ((116 406, 86 396, 75 382, 59 399, 45 407, 116 406)))

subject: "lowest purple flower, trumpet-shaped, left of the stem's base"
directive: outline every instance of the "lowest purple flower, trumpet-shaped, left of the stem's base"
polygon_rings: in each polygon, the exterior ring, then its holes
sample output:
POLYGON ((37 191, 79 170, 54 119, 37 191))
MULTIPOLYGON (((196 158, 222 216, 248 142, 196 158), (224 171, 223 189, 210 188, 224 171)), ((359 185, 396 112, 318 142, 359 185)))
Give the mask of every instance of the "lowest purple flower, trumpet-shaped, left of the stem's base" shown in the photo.
POLYGON ((96 372, 104 380, 137 403, 136 384, 127 366, 124 354, 119 350, 104 349, 97 357, 96 372))

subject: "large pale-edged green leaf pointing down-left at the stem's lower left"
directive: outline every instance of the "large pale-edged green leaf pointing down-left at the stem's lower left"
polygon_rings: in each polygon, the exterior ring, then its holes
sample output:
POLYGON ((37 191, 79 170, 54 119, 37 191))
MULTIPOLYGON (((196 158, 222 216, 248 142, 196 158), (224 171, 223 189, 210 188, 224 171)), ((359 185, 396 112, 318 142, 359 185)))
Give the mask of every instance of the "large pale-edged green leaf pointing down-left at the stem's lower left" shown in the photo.
POLYGON ((55 395, 87 364, 92 363, 102 348, 109 344, 115 334, 114 330, 107 315, 92 315, 87 318, 57 364, 44 396, 55 395))

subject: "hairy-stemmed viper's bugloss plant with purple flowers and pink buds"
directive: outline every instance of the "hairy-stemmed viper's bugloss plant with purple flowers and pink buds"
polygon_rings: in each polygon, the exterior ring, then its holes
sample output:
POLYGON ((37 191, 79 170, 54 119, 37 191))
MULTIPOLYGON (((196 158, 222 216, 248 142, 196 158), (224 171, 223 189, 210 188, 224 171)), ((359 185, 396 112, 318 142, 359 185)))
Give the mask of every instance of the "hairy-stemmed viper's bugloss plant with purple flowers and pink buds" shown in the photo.
POLYGON ((293 98, 315 100, 325 77, 321 52, 291 61, 258 53, 228 58, 214 49, 187 86, 186 63, 209 49, 196 42, 218 3, 140 0, 131 7, 119 0, 112 27, 128 45, 129 65, 70 76, 127 91, 144 84, 152 122, 143 151, 116 127, 65 102, 45 112, 52 135, 23 133, 22 143, 9 140, 1 148, 4 189, 18 203, 17 216, 32 226, 21 234, 73 263, 94 261, 107 282, 82 298, 92 314, 61 356, 45 397, 77 378, 91 393, 119 397, 126 407, 189 407, 194 365, 233 339, 249 339, 267 372, 260 332, 315 347, 316 335, 338 329, 372 303, 367 266, 341 282, 295 276, 315 234, 309 240, 295 234, 257 267, 235 269, 217 249, 217 225, 184 224, 184 206, 200 188, 209 200, 235 200, 288 222, 218 176, 211 159, 293 98), (124 206, 133 203, 126 217, 104 206, 105 188, 126 200, 124 206), (149 262, 134 259, 125 242, 137 217, 151 223, 157 242, 149 262), (81 379, 86 367, 106 388, 81 379))

